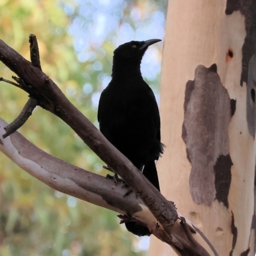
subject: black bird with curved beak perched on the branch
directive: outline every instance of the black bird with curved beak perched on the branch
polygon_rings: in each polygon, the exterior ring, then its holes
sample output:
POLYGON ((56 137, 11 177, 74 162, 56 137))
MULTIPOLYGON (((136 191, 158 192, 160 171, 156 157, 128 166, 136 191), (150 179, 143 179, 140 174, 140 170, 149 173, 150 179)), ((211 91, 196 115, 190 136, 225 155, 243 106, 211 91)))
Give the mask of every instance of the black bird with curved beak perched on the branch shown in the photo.
MULTIPOLYGON (((140 64, 149 45, 159 39, 131 41, 114 51, 112 79, 99 101, 98 121, 104 136, 158 189, 155 161, 163 153, 156 98, 143 80, 140 64)), ((130 221, 127 230, 150 236, 147 227, 130 221)))

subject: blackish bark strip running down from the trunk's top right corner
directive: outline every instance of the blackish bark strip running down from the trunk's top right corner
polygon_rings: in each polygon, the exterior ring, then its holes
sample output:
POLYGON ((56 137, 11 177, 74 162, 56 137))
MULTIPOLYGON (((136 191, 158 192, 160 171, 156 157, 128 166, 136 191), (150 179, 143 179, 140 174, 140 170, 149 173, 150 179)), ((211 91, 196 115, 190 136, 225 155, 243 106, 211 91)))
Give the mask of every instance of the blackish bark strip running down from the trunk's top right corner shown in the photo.
POLYGON ((225 13, 227 15, 232 14, 235 11, 239 11, 244 15, 246 36, 244 38, 244 44, 242 48, 242 72, 240 85, 243 86, 243 82, 248 81, 248 65, 249 61, 255 54, 255 42, 256 42, 256 1, 255 0, 227 0, 227 6, 225 13))

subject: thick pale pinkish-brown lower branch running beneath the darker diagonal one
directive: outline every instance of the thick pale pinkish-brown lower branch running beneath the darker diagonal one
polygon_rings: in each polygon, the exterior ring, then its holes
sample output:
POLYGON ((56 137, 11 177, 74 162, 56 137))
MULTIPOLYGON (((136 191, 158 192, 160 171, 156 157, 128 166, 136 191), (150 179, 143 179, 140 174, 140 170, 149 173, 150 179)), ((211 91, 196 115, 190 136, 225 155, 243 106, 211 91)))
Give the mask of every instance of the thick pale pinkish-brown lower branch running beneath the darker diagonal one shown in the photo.
POLYGON ((147 226, 154 236, 170 244, 178 255, 193 255, 188 253, 198 251, 202 253, 195 255, 218 255, 209 247, 211 243, 202 238, 200 230, 189 220, 185 221, 179 212, 179 219, 174 225, 162 226, 134 193, 124 197, 122 183, 115 186, 113 180, 57 159, 40 150, 19 132, 1 139, 6 125, 0 118, 0 151, 36 179, 67 195, 119 212, 122 220, 133 220, 147 226), (207 251, 213 253, 207 253, 204 248, 210 248, 207 251))

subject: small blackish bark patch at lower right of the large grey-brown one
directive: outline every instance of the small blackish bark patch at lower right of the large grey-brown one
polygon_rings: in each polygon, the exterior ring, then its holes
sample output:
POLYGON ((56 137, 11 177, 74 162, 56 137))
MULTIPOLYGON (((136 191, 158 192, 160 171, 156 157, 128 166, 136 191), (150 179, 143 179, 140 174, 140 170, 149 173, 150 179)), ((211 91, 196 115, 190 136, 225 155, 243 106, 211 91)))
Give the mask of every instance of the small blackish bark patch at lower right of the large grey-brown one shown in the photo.
POLYGON ((216 199, 228 208, 228 191, 231 183, 231 166, 229 155, 219 156, 214 165, 216 199))

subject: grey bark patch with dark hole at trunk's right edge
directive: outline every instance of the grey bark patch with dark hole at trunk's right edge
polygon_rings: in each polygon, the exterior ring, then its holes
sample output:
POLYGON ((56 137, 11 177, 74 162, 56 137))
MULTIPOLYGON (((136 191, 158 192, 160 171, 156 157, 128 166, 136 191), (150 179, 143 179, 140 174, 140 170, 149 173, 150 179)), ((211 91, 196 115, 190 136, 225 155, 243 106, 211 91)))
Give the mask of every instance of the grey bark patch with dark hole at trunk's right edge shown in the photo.
POLYGON ((249 62, 248 69, 248 83, 246 88, 246 120, 248 130, 251 136, 255 137, 256 127, 256 104, 255 104, 255 91, 256 91, 256 57, 252 56, 249 62))

